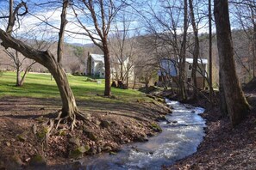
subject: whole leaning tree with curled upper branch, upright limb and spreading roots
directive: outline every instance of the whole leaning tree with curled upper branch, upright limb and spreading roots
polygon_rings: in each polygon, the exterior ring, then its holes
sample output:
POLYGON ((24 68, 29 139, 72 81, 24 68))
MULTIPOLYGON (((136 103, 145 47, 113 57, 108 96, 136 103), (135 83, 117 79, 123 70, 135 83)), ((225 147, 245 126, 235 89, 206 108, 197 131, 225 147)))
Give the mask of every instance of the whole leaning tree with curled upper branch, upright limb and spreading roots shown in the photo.
MULTIPOLYGON (((62 17, 61 17, 61 23, 63 21, 66 21, 66 8, 68 1, 63 1, 63 9, 62 9, 62 17)), ((26 12, 24 12, 22 15, 25 15, 28 13, 27 4, 22 2, 19 3, 15 9, 13 9, 13 0, 9 1, 9 24, 6 29, 6 31, 3 31, 3 29, 0 29, 0 39, 2 39, 2 46, 4 46, 6 49, 12 48, 15 49, 17 52, 21 52, 22 55, 26 58, 33 59, 39 64, 42 64, 45 66, 50 73, 53 75, 53 78, 55 79, 57 86, 59 88, 60 97, 62 100, 62 109, 59 112, 59 121, 63 118, 71 119, 72 122, 72 129, 75 124, 76 117, 79 116, 80 118, 90 118, 90 114, 85 115, 84 113, 79 112, 78 106, 76 104, 75 97, 72 93, 72 89, 69 86, 66 72, 63 70, 60 61, 61 61, 61 52, 58 52, 60 55, 58 56, 58 61, 53 56, 53 54, 49 51, 40 51, 36 50, 31 46, 28 46, 27 44, 23 43, 21 40, 15 39, 12 37, 13 28, 15 26, 16 17, 19 15, 19 9, 25 8, 26 12)), ((64 27, 65 24, 61 24, 61 27, 64 27)), ((63 43, 63 39, 61 37, 63 36, 64 29, 60 29, 62 31, 59 32, 59 41, 60 44, 63 43)), ((58 50, 61 50, 61 45, 59 46, 58 50)))

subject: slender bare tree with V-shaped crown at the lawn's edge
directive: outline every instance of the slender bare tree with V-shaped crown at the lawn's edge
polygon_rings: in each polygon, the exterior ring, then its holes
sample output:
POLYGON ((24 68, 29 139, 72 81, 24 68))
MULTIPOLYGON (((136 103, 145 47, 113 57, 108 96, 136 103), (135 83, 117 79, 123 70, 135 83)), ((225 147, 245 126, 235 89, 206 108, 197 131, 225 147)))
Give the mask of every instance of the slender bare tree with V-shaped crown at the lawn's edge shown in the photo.
POLYGON ((84 0, 74 3, 73 12, 85 34, 98 46, 104 54, 105 66, 105 91, 104 95, 111 95, 110 86, 110 54, 109 54, 109 30, 111 22, 117 12, 125 5, 123 1, 115 0, 84 0), (88 25, 89 24, 89 25, 88 25), (94 28, 91 28, 94 27, 94 28))

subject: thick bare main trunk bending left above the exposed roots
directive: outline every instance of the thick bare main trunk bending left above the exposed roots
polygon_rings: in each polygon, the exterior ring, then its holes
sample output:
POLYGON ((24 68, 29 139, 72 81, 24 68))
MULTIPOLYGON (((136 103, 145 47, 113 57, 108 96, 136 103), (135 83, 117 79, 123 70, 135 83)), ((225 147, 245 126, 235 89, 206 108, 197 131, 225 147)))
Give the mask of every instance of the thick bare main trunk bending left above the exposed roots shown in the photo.
MULTIPOLYGON (((32 47, 24 44, 22 41, 12 38, 2 29, 0 29, 0 39, 2 39, 2 46, 5 48, 13 48, 16 51, 21 52, 26 58, 34 59, 34 61, 42 64, 50 71, 57 83, 62 100, 62 112, 60 117, 75 118, 75 113, 79 113, 76 100, 72 94, 72 89, 68 84, 66 72, 56 61, 53 54, 48 51, 43 52, 35 50, 32 47)), ((89 116, 90 115, 88 115, 88 117, 89 116)))

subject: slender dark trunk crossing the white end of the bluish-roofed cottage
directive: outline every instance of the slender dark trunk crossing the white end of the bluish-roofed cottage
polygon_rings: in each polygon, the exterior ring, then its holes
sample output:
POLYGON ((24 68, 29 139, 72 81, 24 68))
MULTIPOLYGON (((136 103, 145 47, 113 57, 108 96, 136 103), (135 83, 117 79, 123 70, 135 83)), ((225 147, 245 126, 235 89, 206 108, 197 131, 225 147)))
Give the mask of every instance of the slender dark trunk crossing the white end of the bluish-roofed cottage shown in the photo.
POLYGON ((190 3, 190 16, 191 16, 191 22, 192 22, 192 27, 194 32, 194 39, 195 39, 191 77, 193 81, 193 98, 197 99, 197 62, 199 57, 199 38, 198 38, 197 24, 196 24, 195 15, 194 15, 193 1, 189 0, 189 3, 190 3))

